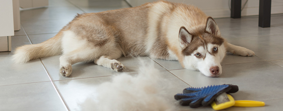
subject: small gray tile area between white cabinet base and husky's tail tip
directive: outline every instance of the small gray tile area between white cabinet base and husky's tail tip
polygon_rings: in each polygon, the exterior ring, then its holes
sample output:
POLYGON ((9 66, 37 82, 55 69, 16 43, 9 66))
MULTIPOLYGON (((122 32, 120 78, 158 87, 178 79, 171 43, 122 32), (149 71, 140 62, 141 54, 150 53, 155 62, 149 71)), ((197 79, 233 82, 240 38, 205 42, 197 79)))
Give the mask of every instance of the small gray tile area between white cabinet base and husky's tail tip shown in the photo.
POLYGON ((12 36, 11 39, 12 51, 0 52, 0 57, 11 56, 16 47, 31 44, 27 35, 12 36))

